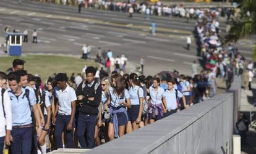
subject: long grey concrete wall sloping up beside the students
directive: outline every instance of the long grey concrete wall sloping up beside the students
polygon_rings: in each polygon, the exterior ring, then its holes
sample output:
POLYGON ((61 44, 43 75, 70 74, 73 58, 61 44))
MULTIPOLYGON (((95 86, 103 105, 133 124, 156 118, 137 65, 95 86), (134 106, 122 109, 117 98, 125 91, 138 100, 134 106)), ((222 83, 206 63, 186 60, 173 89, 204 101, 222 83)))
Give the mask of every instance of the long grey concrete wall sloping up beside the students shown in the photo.
POLYGON ((85 153, 231 153, 241 79, 228 92, 85 153))

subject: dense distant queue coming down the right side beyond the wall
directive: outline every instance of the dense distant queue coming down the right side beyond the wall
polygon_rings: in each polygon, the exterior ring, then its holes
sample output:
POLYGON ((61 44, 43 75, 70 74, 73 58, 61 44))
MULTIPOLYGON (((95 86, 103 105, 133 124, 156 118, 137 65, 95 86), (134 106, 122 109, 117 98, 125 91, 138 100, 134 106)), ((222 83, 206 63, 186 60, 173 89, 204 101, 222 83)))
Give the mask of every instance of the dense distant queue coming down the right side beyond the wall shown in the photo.
POLYGON ((220 23, 207 14, 197 20, 194 28, 197 40, 198 54, 202 57, 203 67, 211 71, 208 76, 211 79, 223 78, 226 87, 229 88, 233 82, 234 75, 242 75, 245 89, 249 89, 250 82, 254 77, 254 66, 252 60, 246 60, 239 50, 228 44, 227 49, 221 43, 220 23))

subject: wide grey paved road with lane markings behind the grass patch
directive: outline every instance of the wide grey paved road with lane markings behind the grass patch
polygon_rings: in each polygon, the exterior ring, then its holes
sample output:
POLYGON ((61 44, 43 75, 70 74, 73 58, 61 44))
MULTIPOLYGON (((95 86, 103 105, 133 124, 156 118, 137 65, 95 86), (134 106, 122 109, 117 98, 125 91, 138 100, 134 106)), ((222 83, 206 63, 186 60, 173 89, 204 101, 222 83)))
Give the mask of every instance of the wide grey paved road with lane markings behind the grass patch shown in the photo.
MULTIPOLYGON (((145 75, 174 69, 190 75, 190 65, 198 60, 196 46, 192 43, 190 51, 184 46, 194 25, 195 20, 186 23, 184 18, 146 20, 139 14, 129 18, 123 12, 93 9, 83 9, 78 14, 77 7, 0 0, 0 28, 28 30, 30 43, 23 44, 23 52, 80 55, 82 45, 90 44, 93 54, 97 47, 111 49, 114 57, 125 54, 135 63, 139 63, 140 55, 146 55, 145 75), (156 36, 150 34, 152 21, 156 22, 156 36), (31 43, 34 29, 38 30, 38 44, 31 43)), ((224 31, 224 23, 220 28, 224 31)), ((250 39, 241 42, 245 57, 251 57, 248 44, 252 44, 250 39)))

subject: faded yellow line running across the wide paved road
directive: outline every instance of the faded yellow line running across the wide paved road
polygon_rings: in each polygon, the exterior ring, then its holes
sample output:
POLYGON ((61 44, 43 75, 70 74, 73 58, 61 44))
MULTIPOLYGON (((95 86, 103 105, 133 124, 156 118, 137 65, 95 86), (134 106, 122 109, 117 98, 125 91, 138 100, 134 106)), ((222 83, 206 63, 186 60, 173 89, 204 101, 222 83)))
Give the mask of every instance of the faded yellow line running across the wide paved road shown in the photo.
MULTIPOLYGON (((14 9, 8 9, 10 11, 14 10, 14 9)), ((15 10, 14 12, 19 12, 20 10, 15 10)), ((12 13, 12 12, 11 12, 12 13)), ((11 14, 10 13, 10 14, 11 14)), ((20 15, 23 15, 23 14, 28 14, 28 11, 25 11, 25 10, 22 10, 22 12, 20 13, 20 15)), ((4 12, 4 14, 6 14, 6 12, 4 12)), ((40 13, 40 14, 36 14, 35 16, 39 16, 39 17, 45 17, 46 14, 45 13, 40 13)), ((64 20, 67 20, 66 19, 66 15, 54 15, 54 18, 59 18, 59 19, 64 19, 64 20)), ((121 23, 109 23, 109 22, 105 22, 105 21, 102 21, 102 20, 93 20, 93 19, 87 19, 85 21, 85 18, 82 18, 82 17, 72 17, 72 18, 69 18, 69 20, 73 20, 73 21, 80 21, 80 22, 95 22, 95 23, 99 23, 99 24, 108 24, 108 25, 113 25, 113 26, 121 26, 121 27, 126 27, 127 24, 121 24, 121 23)), ((132 26, 133 28, 140 28, 140 29, 149 29, 150 27, 149 26, 145 26, 145 25, 133 25, 132 26)), ((156 27, 156 31, 163 31, 163 32, 171 32, 171 33, 182 33, 182 34, 192 34, 191 31, 184 31, 184 30, 171 30, 169 28, 157 28, 156 27)))

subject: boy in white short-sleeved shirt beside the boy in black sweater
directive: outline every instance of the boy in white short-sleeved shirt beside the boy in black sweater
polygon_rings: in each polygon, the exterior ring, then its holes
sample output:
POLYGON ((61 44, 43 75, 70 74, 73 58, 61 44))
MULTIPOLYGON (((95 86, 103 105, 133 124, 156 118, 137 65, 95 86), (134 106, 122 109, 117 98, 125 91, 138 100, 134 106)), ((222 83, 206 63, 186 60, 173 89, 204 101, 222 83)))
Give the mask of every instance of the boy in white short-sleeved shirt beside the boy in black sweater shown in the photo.
POLYGON ((53 115, 54 137, 57 148, 64 148, 62 145, 61 134, 65 132, 65 148, 72 148, 73 128, 75 117, 75 90, 67 84, 66 73, 58 73, 55 76, 58 90, 55 92, 56 107, 53 115), (66 130, 66 131, 64 131, 66 130))

